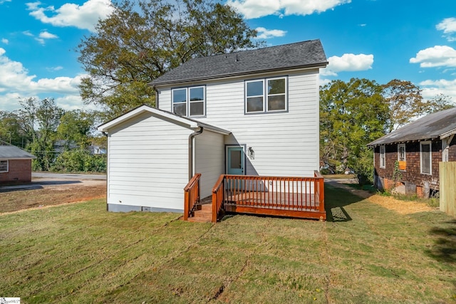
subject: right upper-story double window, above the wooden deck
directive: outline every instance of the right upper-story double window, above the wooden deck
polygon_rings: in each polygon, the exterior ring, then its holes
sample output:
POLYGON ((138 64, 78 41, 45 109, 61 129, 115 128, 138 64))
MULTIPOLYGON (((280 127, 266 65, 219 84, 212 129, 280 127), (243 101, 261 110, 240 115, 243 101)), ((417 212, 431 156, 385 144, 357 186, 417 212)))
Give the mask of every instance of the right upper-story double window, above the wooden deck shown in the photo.
POLYGON ((245 82, 247 113, 286 111, 286 78, 266 78, 245 82))

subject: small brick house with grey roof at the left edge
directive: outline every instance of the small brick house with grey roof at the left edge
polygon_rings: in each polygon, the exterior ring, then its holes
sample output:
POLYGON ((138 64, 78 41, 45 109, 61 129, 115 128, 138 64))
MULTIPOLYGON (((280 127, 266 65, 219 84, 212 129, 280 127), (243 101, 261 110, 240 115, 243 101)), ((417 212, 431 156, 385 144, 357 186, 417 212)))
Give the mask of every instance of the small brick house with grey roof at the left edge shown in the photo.
POLYGON ((10 145, 0 145, 0 184, 31 182, 32 154, 10 145))

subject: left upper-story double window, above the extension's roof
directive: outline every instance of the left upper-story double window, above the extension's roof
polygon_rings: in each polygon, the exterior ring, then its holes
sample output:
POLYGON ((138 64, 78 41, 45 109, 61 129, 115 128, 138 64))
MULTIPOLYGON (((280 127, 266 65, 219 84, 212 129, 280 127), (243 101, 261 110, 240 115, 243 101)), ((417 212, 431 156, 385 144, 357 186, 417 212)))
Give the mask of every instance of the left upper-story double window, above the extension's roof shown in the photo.
POLYGON ((180 116, 204 116, 206 94, 203 87, 172 90, 172 112, 180 116))

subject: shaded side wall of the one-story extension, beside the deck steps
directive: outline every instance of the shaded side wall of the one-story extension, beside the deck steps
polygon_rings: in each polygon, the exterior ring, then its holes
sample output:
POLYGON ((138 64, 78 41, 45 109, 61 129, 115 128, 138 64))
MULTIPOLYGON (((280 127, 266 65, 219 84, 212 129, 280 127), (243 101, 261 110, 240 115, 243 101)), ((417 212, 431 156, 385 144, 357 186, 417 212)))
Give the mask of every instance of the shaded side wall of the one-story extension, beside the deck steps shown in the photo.
POLYGON ((224 135, 204 130, 195 137, 195 173, 201 173, 201 198, 212 195, 212 187, 224 174, 224 135))

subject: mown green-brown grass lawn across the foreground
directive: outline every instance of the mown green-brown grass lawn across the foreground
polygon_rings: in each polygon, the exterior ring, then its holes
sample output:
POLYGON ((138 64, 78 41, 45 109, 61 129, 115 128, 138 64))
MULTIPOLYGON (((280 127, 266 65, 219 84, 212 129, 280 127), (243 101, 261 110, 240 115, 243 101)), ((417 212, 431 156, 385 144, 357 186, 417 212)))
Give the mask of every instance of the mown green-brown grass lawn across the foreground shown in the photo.
POLYGON ((21 303, 454 303, 456 220, 326 188, 328 221, 105 211, 0 216, 0 296, 21 303))

